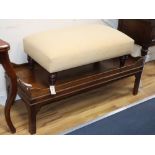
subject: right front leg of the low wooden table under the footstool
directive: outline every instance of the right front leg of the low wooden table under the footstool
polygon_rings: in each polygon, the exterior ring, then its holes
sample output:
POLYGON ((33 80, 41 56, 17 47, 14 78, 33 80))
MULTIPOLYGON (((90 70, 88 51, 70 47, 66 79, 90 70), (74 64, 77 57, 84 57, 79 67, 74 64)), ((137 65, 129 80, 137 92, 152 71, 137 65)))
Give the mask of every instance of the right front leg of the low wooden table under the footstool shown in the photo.
POLYGON ((133 95, 137 95, 137 93, 138 93, 141 76, 142 76, 142 72, 138 72, 135 75, 135 83, 134 83, 133 95))

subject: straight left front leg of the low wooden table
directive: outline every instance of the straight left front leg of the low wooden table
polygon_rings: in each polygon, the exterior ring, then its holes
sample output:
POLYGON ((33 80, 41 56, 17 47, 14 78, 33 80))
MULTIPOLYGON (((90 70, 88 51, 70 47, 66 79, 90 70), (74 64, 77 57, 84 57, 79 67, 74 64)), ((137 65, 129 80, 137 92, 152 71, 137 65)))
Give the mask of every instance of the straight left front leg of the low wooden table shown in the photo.
POLYGON ((29 117, 29 132, 30 134, 36 133, 36 115, 37 110, 34 106, 28 108, 28 117, 29 117))

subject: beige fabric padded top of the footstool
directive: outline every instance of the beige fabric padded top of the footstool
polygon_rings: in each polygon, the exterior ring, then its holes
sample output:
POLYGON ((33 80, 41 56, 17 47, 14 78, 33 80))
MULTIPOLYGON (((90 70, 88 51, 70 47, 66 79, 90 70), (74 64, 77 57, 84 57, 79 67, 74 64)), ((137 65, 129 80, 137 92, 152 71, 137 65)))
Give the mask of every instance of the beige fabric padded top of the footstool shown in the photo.
POLYGON ((24 38, 24 51, 48 72, 130 54, 134 41, 101 24, 52 29, 24 38))

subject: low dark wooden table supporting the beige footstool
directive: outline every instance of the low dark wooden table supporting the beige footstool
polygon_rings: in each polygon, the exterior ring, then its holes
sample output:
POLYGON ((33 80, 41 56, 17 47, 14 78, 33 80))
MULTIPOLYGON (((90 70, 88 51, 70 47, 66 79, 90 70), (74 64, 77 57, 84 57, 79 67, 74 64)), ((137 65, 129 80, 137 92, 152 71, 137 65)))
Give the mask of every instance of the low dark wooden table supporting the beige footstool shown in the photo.
MULTIPOLYGON (((24 101, 28 111, 30 134, 36 133, 37 113, 47 104, 52 104, 53 102, 84 93, 85 91, 129 76, 135 76, 133 94, 136 95, 139 89, 145 57, 129 57, 123 65, 121 65, 122 61, 118 58, 115 59, 116 63, 113 60, 110 60, 110 62, 107 60, 107 62, 99 62, 98 65, 89 64, 57 73, 56 95, 51 95, 49 85, 46 83, 49 74, 39 64, 35 63, 33 68, 29 64, 14 65, 17 74, 18 95, 24 101), (110 67, 111 65, 112 68, 110 67), (106 66, 111 69, 107 70, 104 68, 106 66), (69 77, 65 75, 69 75, 69 77)), ((6 81, 9 83, 7 76, 6 81)))

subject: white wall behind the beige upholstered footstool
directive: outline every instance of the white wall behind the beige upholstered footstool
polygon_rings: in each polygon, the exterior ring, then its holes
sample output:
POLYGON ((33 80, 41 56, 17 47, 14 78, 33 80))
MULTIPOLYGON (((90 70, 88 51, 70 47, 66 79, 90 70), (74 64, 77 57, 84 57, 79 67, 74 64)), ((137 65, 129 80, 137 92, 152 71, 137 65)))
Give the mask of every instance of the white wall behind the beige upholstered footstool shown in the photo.
MULTIPOLYGON (((9 56, 12 62, 21 64, 26 62, 26 54, 23 51, 23 37, 42 30, 81 23, 103 23, 104 20, 0 20, 0 38, 10 43, 9 56)), ((117 20, 105 22, 117 27, 117 20)), ((4 70, 0 65, 0 104, 6 100, 4 70)))

